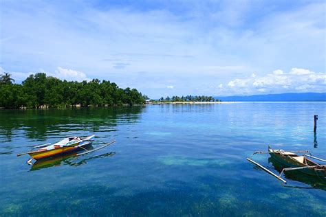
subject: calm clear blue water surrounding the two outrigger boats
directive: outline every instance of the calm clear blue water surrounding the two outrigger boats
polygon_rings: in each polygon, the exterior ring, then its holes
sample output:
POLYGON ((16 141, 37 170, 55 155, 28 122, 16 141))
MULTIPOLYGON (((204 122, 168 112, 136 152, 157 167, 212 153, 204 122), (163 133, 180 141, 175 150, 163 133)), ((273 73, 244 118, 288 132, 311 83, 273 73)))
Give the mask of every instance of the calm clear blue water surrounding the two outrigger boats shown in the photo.
MULTIPOLYGON (((326 158, 325 132, 326 103, 2 110, 0 215, 326 216, 325 183, 294 173, 284 187, 246 161, 268 144, 326 158), (34 166, 16 157, 92 134, 116 144, 34 166)), ((253 159, 277 169, 268 155, 253 159)))

